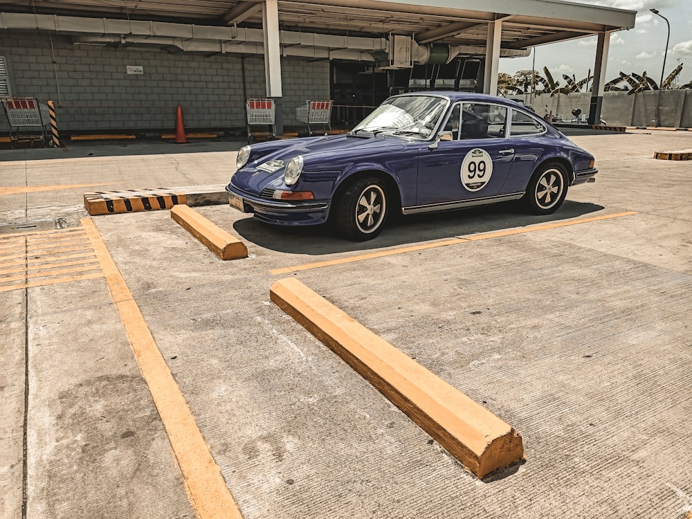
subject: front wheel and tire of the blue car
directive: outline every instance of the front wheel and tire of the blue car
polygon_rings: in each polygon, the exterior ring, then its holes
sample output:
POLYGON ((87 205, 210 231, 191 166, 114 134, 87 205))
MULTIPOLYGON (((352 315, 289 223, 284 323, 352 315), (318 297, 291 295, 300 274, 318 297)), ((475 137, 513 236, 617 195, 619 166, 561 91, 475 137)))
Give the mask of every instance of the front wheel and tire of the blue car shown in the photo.
POLYGON ((336 203, 334 223, 339 232, 354 242, 365 242, 382 232, 389 212, 383 181, 368 177, 349 185, 336 203))

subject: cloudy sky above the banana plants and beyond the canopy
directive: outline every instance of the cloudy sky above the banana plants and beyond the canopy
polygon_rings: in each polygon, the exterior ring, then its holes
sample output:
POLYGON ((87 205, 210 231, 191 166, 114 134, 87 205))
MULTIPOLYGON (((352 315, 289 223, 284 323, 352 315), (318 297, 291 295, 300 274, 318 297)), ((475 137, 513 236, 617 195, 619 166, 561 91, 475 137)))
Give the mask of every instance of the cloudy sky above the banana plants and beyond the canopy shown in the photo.
MULTIPOLYGON (((671 41, 668 44, 666 77, 678 64, 684 64, 678 78, 680 84, 692 81, 692 0, 567 0, 594 6, 614 7, 637 11, 635 27, 612 33, 608 52, 608 69, 605 80, 617 78, 620 71, 647 75, 659 82, 666 48, 666 22, 650 12, 660 11, 671 24, 671 41)), ((529 57, 502 58, 500 72, 513 74, 531 70, 536 58, 536 70, 547 66, 555 80, 564 84, 563 74, 585 78, 594 68, 596 59, 595 36, 570 42, 535 47, 529 57)))

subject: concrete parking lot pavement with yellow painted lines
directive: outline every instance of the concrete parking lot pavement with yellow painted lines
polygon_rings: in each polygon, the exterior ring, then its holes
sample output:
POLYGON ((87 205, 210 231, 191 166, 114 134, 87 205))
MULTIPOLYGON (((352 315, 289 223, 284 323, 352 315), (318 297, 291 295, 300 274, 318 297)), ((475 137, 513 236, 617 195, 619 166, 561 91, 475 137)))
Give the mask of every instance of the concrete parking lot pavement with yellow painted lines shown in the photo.
POLYGON ((692 167, 653 154, 692 133, 573 140, 597 182, 549 217, 352 243, 197 208, 246 244, 227 262, 167 210, 89 218, 82 196, 224 183, 242 143, 0 151, 0 517, 230 516, 195 479, 208 448, 246 519, 688 518, 692 167), (511 424, 525 460, 465 471, 269 301, 284 277, 511 424))

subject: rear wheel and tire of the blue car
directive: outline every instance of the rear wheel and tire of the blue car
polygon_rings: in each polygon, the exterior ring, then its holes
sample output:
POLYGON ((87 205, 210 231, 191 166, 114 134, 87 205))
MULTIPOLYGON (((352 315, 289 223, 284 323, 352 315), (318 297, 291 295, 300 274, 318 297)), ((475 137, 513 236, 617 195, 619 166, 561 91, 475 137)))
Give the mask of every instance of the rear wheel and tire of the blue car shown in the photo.
POLYGON ((540 166, 531 176, 521 201, 531 215, 550 215, 562 206, 567 197, 569 177, 558 163, 540 166))

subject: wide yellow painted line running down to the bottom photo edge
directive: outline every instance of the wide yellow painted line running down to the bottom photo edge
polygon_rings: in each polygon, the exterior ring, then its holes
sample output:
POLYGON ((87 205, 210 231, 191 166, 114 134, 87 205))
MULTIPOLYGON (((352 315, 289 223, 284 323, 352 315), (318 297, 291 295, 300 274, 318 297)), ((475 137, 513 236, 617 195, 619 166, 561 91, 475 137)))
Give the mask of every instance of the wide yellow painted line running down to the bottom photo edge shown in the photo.
POLYGON ((170 439, 192 506, 201 519, 242 519, 228 486, 192 417, 137 303, 91 219, 82 219, 120 312, 132 351, 170 439))

